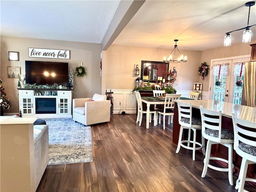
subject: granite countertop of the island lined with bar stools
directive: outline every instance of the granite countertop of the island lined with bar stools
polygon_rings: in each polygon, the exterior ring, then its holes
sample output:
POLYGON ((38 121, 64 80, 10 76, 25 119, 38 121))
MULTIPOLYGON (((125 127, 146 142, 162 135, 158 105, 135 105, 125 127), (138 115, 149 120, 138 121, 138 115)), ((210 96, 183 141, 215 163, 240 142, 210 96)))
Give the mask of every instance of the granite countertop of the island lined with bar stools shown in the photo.
POLYGON ((221 110, 222 115, 228 118, 232 118, 231 114, 234 113, 238 118, 256 122, 256 108, 249 107, 244 105, 232 104, 228 102, 219 102, 215 100, 180 100, 184 103, 192 103, 192 107, 200 108, 200 105, 203 108, 209 110, 221 110))

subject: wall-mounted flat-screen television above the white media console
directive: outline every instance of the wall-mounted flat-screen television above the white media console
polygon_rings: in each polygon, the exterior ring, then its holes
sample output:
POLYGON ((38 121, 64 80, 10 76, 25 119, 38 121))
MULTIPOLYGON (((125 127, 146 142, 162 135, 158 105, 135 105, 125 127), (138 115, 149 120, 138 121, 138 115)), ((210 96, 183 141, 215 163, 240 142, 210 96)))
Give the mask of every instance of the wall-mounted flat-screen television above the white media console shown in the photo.
POLYGON ((26 83, 39 85, 68 84, 68 63, 25 61, 26 83))

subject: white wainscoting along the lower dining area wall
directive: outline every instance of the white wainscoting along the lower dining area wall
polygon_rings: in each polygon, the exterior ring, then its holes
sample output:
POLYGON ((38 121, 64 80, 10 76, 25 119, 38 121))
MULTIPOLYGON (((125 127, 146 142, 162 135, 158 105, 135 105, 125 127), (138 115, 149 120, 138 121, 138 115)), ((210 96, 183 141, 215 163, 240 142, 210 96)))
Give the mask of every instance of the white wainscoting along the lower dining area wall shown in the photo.
MULTIPOLYGON (((111 91, 113 92, 112 96, 114 98, 114 114, 122 113, 122 111, 127 114, 136 114, 137 101, 132 90, 111 89, 111 91), (121 105, 119 102, 121 102, 121 105)), ((182 94, 182 97, 188 97, 190 91, 192 90, 182 90, 177 91, 177 93, 182 94)), ((208 99, 208 92, 202 92, 202 99, 208 99)))

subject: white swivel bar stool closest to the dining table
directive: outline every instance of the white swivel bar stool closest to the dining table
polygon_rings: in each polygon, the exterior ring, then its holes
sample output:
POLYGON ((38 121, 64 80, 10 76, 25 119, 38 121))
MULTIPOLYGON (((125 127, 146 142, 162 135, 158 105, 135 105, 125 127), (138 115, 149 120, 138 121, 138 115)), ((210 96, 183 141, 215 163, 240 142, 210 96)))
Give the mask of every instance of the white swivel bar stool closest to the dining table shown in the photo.
POLYGON ((203 154, 205 154, 205 149, 203 147, 204 138, 202 137, 202 143, 196 142, 196 130, 202 129, 202 123, 200 118, 192 117, 192 103, 182 103, 180 102, 180 100, 177 100, 177 105, 178 105, 178 112, 179 112, 180 134, 179 134, 176 153, 180 151, 180 147, 193 150, 192 159, 194 161, 196 150, 202 149, 203 154), (188 129, 187 140, 182 140, 184 129, 188 129), (191 130, 194 132, 193 140, 190 139, 191 130), (187 143, 187 145, 185 145, 184 143, 187 143), (192 147, 190 147, 190 143, 193 144, 192 147), (196 147, 196 144, 199 145, 199 147, 196 147))

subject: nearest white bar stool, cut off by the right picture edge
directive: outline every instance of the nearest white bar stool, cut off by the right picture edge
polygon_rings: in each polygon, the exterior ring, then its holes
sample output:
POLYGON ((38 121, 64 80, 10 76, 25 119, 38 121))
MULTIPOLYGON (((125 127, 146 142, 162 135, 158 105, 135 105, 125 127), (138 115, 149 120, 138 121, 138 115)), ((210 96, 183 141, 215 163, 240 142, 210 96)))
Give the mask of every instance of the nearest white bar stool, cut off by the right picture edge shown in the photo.
POLYGON ((234 150, 242 157, 235 189, 241 192, 244 190, 245 181, 256 182, 256 179, 246 177, 248 164, 256 163, 256 122, 240 119, 234 116, 233 113, 232 120, 234 127, 234 150))

